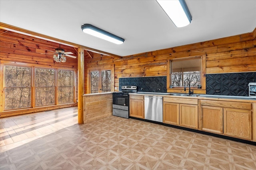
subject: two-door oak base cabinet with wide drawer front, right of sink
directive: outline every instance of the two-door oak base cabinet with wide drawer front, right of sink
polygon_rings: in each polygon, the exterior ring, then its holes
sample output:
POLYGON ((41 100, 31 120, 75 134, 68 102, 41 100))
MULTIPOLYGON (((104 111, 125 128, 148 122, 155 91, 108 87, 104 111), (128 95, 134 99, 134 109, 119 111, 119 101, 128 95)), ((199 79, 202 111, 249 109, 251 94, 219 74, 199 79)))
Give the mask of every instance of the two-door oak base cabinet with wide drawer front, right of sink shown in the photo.
POLYGON ((202 129, 241 139, 252 139, 252 103, 200 100, 202 129))

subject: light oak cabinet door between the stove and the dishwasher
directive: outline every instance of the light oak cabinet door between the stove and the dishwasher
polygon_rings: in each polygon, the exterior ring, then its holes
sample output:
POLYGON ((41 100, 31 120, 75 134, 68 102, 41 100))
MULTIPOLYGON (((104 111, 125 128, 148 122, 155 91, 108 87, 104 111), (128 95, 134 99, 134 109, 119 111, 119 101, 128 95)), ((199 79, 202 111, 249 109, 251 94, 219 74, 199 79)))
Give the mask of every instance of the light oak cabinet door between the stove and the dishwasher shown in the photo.
POLYGON ((130 99, 130 116, 144 119, 144 100, 130 99))

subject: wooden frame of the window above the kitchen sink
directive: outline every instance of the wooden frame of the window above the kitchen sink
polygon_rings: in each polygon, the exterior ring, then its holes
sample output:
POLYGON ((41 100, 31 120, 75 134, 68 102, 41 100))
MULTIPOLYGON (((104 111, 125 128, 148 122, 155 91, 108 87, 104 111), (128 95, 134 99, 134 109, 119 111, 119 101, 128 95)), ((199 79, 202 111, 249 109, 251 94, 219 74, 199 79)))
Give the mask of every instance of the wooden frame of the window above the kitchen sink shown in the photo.
POLYGON ((172 60, 178 60, 178 59, 191 59, 191 58, 196 58, 196 57, 201 57, 201 88, 198 89, 197 87, 191 87, 191 89, 194 90, 195 94, 206 94, 206 53, 194 53, 190 55, 184 55, 184 54, 176 54, 172 53, 171 57, 167 57, 167 92, 169 93, 188 93, 187 91, 184 91, 184 86, 171 86, 171 70, 170 70, 170 64, 172 60))

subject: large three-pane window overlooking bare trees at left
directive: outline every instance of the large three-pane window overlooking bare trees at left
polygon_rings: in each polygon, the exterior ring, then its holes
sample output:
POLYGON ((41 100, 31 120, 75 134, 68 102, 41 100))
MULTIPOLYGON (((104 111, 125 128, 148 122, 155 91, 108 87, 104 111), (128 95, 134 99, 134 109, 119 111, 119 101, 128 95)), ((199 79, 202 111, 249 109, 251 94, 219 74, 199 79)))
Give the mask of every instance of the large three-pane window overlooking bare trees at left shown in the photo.
POLYGON ((74 103, 75 69, 19 64, 1 63, 1 111, 74 103))

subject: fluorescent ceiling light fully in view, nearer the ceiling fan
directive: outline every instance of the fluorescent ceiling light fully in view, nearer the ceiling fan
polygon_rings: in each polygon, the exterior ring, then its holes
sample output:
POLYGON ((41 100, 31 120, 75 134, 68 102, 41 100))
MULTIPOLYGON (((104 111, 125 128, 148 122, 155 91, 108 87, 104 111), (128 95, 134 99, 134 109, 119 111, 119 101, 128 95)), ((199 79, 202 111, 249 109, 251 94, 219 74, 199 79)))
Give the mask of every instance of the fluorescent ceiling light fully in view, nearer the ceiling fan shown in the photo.
POLYGON ((106 41, 110 41, 115 44, 122 44, 124 43, 124 39, 121 37, 118 37, 112 33, 109 33, 107 31, 104 31, 103 29, 100 29, 98 27, 95 27, 91 24, 84 24, 81 26, 81 29, 84 33, 88 33, 90 35, 93 35, 95 37, 104 39, 106 41))

